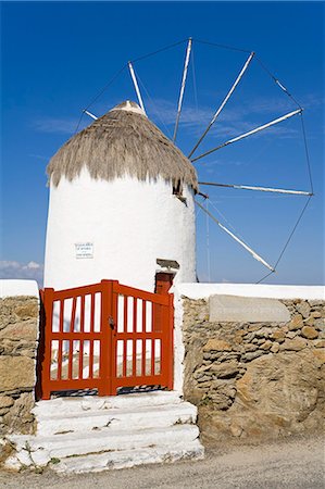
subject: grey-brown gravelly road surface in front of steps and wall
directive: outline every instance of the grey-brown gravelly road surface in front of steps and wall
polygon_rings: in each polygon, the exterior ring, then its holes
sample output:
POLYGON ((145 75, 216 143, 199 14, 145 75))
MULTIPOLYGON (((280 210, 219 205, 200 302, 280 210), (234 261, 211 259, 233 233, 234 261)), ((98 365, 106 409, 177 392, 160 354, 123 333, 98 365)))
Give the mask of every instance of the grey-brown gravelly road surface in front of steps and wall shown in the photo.
POLYGON ((324 489, 324 440, 295 438, 260 446, 221 444, 203 461, 92 474, 0 474, 0 488, 324 489))

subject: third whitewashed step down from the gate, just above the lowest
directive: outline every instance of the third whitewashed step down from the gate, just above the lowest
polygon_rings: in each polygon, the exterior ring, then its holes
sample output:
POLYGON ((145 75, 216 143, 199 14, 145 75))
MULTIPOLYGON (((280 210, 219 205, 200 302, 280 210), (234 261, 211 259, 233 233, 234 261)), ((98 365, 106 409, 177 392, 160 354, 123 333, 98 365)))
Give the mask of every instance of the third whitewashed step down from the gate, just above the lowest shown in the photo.
POLYGON ((170 428, 122 432, 88 431, 83 437, 80 437, 80 434, 68 434, 51 437, 12 435, 9 438, 16 443, 17 457, 22 463, 26 462, 29 452, 36 465, 45 465, 46 461, 49 462, 51 459, 85 455, 109 450, 134 450, 155 446, 171 448, 179 443, 186 446, 186 443, 195 441, 198 436, 199 429, 196 425, 175 425, 170 428))

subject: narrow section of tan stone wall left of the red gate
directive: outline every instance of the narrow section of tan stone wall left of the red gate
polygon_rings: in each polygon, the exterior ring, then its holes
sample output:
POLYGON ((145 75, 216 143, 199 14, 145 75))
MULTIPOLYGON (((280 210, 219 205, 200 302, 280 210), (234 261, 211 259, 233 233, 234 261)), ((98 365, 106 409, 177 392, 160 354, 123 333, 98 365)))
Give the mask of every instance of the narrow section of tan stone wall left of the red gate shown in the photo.
POLYGON ((0 298, 0 437, 32 434, 38 298, 0 298))

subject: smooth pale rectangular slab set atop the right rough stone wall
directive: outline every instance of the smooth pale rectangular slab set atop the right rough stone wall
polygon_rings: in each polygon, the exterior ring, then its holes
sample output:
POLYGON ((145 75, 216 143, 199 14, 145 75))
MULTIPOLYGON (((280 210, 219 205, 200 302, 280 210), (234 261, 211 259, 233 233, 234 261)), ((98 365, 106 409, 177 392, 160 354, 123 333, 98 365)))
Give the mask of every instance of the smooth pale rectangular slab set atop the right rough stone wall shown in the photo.
POLYGON ((290 314, 276 299, 211 296, 210 322, 287 323, 290 314))

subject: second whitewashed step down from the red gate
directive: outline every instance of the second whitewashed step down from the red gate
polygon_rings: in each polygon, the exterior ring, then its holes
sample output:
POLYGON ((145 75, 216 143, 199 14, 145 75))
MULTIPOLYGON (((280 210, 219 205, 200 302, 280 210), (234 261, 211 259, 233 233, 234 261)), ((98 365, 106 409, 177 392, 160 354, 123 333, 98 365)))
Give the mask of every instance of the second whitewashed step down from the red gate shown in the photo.
POLYGON ((82 411, 73 414, 59 412, 42 413, 37 416, 37 436, 51 436, 68 432, 105 430, 116 431, 140 428, 171 427, 175 424, 193 424, 197 419, 197 408, 189 402, 177 404, 140 406, 135 411, 128 409, 111 409, 99 411, 82 411))

